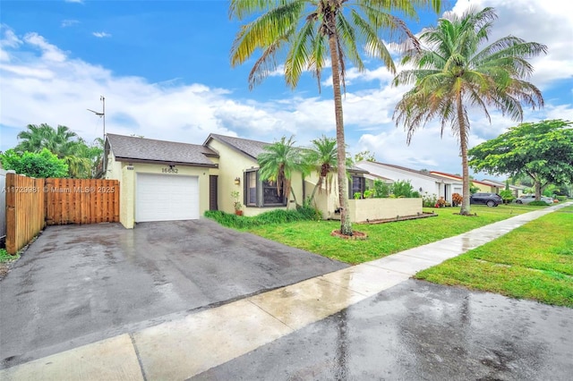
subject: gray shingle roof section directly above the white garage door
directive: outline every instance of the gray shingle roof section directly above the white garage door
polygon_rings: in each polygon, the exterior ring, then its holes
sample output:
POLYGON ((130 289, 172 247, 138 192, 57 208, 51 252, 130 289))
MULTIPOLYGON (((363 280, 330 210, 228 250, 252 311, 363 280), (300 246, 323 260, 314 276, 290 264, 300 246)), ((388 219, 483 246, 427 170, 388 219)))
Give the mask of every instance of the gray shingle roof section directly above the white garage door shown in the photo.
POLYGON ((107 134, 107 141, 118 161, 178 163, 216 166, 208 157, 217 157, 212 149, 175 141, 153 140, 133 136, 107 134))

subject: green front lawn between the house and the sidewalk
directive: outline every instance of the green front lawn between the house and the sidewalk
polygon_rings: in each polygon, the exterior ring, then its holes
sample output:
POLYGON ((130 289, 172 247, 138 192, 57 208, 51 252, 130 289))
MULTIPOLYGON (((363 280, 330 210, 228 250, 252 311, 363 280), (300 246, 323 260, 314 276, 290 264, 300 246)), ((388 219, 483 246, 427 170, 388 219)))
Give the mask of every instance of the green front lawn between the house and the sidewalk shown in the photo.
POLYGON ((367 233, 366 241, 349 241, 331 237, 339 229, 337 221, 306 221, 291 224, 269 224, 247 229, 288 246, 321 254, 349 264, 357 264, 385 257, 433 241, 465 233, 485 224, 492 224, 511 216, 543 207, 500 205, 499 207, 472 206, 477 216, 458 216, 458 207, 424 208, 438 216, 389 224, 354 224, 356 231, 367 233))

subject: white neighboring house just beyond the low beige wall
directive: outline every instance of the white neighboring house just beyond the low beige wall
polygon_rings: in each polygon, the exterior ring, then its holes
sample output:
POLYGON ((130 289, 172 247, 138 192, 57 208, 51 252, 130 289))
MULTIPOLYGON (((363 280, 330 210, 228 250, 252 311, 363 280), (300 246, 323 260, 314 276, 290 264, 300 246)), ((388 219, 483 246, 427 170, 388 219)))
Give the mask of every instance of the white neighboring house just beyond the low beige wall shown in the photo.
POLYGON ((409 181, 414 190, 419 191, 421 195, 427 193, 436 197, 443 197, 449 202, 451 202, 452 193, 461 194, 462 192, 462 182, 429 172, 369 161, 361 161, 356 166, 368 171, 370 174, 382 176, 394 182, 409 181))

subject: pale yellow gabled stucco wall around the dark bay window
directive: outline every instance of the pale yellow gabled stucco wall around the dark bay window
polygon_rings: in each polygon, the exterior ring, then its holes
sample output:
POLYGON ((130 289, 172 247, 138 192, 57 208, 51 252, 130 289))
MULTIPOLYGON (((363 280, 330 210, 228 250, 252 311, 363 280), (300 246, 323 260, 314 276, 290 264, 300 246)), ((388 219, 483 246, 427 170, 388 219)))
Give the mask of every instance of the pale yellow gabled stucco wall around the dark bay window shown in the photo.
MULTIPOLYGON (((218 209, 227 213, 235 212, 235 199, 231 197, 231 192, 237 190, 240 194, 239 201, 244 204, 244 172, 249 169, 259 168, 257 161, 251 157, 246 156, 244 153, 230 148, 226 144, 218 140, 210 140, 208 147, 218 152, 219 165, 218 165, 218 209), (239 185, 235 184, 235 178, 241 179, 239 185)), ((292 179, 292 187, 295 190, 296 200, 303 203, 303 181, 301 174, 294 174, 292 179)), ((289 197, 289 201, 293 200, 293 196, 289 197)), ((286 204, 288 208, 294 208, 294 202, 286 204)), ((283 209, 284 207, 245 207, 243 206, 244 216, 257 216, 261 213, 268 212, 273 209, 283 209)))

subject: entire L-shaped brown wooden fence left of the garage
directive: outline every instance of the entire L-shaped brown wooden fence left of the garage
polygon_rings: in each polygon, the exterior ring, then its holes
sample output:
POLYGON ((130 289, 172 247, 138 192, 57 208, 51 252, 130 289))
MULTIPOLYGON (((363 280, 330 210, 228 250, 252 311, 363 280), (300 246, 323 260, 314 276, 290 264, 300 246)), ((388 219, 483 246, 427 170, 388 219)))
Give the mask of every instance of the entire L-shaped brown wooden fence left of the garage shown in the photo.
POLYGON ((6 174, 6 250, 15 254, 46 224, 119 222, 119 182, 6 174))

